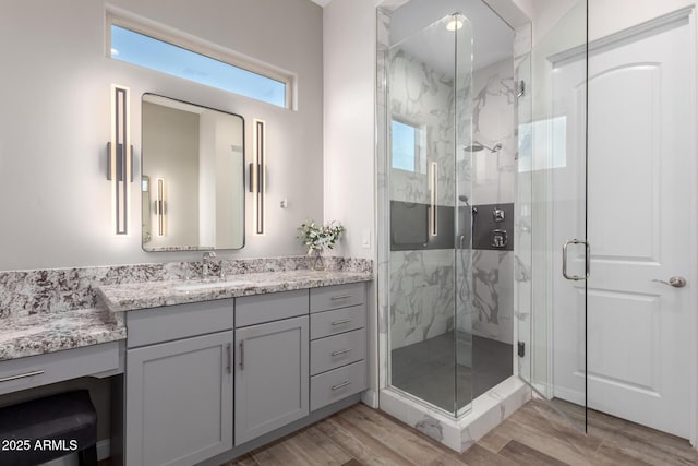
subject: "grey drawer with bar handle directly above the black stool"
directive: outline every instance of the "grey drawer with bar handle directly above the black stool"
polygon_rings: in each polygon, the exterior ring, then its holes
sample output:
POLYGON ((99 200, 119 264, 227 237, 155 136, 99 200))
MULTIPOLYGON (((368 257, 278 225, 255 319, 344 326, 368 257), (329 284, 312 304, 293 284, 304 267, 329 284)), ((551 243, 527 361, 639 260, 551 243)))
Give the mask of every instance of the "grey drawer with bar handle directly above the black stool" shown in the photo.
POLYGON ((0 361, 0 395, 123 369, 119 342, 0 361))

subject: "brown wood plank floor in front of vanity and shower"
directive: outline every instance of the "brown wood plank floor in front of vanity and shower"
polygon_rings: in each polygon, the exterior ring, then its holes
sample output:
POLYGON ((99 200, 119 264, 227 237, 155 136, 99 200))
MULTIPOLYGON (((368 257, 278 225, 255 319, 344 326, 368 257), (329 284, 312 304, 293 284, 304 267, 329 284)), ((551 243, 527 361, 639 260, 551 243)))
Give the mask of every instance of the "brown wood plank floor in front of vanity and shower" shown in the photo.
POLYGON ((541 401, 457 454, 360 404, 221 466, 305 465, 674 466, 698 465, 698 454, 685 440, 601 413, 590 414, 585 435, 541 401))

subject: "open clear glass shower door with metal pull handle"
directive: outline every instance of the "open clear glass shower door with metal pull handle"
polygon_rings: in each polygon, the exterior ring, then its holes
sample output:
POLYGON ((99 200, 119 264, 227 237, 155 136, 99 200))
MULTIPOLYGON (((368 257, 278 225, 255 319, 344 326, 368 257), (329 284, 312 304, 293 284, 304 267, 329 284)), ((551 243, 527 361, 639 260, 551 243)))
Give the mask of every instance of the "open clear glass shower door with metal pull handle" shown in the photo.
POLYGON ((519 184, 530 189, 519 228, 531 232, 532 260, 532 306, 519 314, 519 340, 527 343, 519 374, 586 429, 587 0, 555 14, 532 50, 532 118, 519 128, 528 141, 519 184))

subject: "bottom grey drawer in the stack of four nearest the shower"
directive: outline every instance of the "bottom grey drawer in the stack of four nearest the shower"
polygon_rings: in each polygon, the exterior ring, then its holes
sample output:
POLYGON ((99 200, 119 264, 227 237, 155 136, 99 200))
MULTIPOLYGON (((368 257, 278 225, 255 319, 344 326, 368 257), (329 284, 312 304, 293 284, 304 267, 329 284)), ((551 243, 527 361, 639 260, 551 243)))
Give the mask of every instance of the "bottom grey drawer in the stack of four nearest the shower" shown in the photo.
POLYGON ((314 411, 365 389, 365 361, 314 375, 310 379, 310 410, 314 411))

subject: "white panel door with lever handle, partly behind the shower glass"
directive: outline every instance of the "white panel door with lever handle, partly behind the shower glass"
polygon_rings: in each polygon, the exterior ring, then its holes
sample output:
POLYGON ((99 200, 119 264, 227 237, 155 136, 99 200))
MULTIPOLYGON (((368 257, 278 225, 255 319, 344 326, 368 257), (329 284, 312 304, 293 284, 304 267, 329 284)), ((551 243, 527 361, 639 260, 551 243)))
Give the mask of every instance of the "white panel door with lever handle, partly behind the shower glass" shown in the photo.
MULTIPOLYGON (((555 351, 556 396, 583 403, 586 356, 590 408, 683 438, 690 434, 689 374, 695 368, 695 51, 689 21, 677 17, 590 46, 586 321, 583 282, 558 276, 554 291, 555 344, 565 349, 559 356, 555 351), (687 285, 654 282, 672 276, 684 277, 687 285)), ((562 74, 578 65, 562 67, 562 74)), ((580 99, 583 89, 559 94, 580 99)), ((583 174, 578 169, 570 180, 580 182, 583 174)), ((554 228, 564 230, 561 220, 581 222, 581 215, 583 210, 570 213, 559 206, 554 228)), ((555 240, 564 241, 564 235, 556 232, 555 240)), ((576 271, 582 259, 582 250, 570 256, 576 271)))

